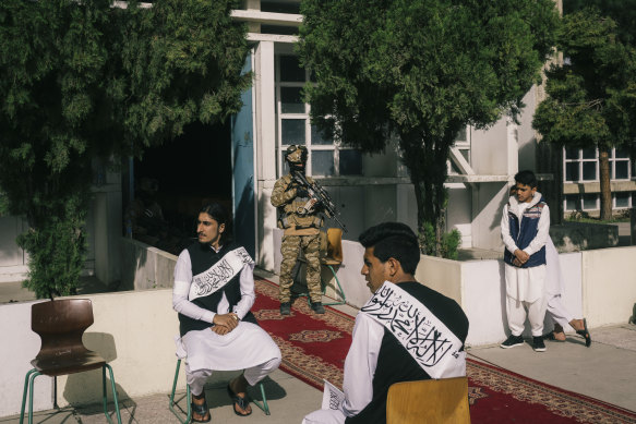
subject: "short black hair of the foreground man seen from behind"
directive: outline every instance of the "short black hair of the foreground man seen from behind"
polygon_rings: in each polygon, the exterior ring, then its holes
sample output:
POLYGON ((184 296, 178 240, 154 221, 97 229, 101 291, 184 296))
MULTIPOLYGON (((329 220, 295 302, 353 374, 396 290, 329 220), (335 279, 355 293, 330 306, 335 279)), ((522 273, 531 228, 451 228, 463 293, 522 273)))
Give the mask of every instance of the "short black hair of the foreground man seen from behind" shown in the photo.
POLYGON ((373 254, 385 263, 393 257, 406 274, 416 274, 420 262, 420 247, 413 230, 401 222, 382 222, 367 229, 358 238, 364 247, 374 247, 373 254))

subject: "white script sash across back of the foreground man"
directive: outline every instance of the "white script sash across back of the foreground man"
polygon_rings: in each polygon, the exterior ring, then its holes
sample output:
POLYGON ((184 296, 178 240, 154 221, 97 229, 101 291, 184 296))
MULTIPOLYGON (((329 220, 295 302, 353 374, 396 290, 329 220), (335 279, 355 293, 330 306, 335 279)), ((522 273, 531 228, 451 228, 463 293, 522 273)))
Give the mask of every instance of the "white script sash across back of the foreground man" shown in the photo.
POLYGON ((461 341, 398 284, 385 281, 360 312, 389 330, 431 378, 466 375, 461 341))

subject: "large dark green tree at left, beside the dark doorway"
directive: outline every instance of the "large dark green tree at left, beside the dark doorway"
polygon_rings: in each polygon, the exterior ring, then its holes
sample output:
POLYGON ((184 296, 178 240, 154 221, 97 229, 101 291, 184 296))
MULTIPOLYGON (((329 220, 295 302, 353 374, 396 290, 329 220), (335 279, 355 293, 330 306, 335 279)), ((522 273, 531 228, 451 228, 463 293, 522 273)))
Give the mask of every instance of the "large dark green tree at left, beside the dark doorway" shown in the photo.
POLYGON ((250 75, 235 5, 0 3, 0 190, 7 210, 28 220, 19 243, 38 296, 76 283, 95 158, 140 156, 192 121, 239 110, 250 75))

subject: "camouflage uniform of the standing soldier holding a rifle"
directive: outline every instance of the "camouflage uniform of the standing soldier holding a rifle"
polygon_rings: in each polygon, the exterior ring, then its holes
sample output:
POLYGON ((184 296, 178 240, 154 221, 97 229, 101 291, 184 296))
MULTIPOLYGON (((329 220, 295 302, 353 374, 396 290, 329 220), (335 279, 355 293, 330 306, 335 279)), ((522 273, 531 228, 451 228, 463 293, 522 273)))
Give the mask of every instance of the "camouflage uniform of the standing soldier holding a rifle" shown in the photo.
MULTIPOLYGON (((307 177, 313 183, 311 177, 307 177)), ((297 183, 290 174, 287 174, 274 184, 272 192, 272 205, 278 209, 278 228, 285 230, 280 253, 279 300, 280 303, 289 302, 291 298, 290 287, 293 283, 291 270, 296 265, 298 252, 307 258, 307 287, 312 303, 322 302, 321 290, 321 264, 320 264, 320 228, 323 218, 320 213, 305 214, 303 206, 309 197, 298 197, 297 183)))

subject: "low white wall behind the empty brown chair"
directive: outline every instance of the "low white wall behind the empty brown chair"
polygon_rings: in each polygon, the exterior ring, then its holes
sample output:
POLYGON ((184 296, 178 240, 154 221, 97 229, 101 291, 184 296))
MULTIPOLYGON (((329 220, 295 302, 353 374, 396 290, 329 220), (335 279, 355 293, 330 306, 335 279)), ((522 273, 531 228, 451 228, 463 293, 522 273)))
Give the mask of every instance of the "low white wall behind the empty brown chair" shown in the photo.
MULTIPOLYGON (((171 294, 170 289, 161 289, 82 296, 93 301, 95 316, 95 324, 84 334, 84 343, 112 366, 121 398, 168 392, 171 388, 177 361, 173 336, 179 331, 171 294)), ((0 305, 4 340, 0 348, 0 416, 20 413, 24 376, 39 351, 39 337, 31 330, 33 303, 0 305)), ((183 389, 181 374, 179 388, 183 389)), ((60 407, 100 399, 100 371, 58 377, 60 407)), ((50 377, 36 378, 34 409, 52 409, 50 377)))

